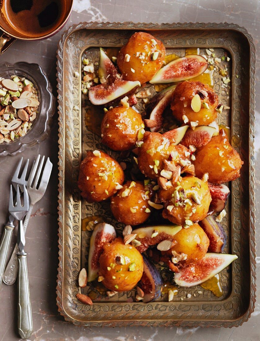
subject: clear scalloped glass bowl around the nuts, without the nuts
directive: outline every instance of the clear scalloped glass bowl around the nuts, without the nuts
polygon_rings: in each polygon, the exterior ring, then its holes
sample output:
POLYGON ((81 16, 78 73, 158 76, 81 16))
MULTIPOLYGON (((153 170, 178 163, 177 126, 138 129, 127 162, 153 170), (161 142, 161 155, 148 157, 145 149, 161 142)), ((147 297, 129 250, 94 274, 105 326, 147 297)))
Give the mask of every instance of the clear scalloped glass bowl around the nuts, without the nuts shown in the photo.
POLYGON ((0 156, 15 155, 23 151, 27 146, 33 146, 44 140, 50 131, 51 118, 55 112, 55 99, 52 94, 52 87, 38 64, 18 62, 15 64, 1 63, 0 77, 10 78, 12 75, 25 77, 34 84, 38 100, 40 102, 38 114, 31 129, 22 137, 12 142, 0 144, 0 156))

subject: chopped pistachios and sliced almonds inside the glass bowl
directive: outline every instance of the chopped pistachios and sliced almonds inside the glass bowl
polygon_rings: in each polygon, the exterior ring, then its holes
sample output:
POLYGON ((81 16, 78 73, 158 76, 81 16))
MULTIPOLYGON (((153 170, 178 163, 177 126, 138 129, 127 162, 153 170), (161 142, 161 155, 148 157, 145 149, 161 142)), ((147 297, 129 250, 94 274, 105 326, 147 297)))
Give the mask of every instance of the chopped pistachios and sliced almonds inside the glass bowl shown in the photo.
POLYGON ((25 77, 0 77, 0 143, 24 136, 32 127, 39 107, 37 90, 25 77))

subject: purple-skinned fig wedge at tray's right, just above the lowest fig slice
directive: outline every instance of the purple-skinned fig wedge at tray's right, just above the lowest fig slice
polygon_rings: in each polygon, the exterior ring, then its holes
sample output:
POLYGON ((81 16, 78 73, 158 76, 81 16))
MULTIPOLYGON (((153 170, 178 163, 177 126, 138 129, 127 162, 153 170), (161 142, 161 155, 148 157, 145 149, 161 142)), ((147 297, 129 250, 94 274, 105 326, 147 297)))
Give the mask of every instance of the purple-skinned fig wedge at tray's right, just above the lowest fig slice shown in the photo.
POLYGON ((227 235, 223 227, 214 219, 213 216, 208 216, 199 221, 199 225, 205 231, 208 239, 210 239, 208 251, 216 253, 223 252, 227 242, 227 235))

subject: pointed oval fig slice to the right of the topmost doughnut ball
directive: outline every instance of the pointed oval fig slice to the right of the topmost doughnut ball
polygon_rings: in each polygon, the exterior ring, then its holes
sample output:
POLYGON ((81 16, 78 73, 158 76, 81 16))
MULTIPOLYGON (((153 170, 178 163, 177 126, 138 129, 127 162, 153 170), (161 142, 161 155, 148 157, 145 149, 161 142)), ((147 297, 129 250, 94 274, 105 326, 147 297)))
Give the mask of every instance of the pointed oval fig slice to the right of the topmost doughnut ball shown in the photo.
POLYGON ((207 70, 208 62, 200 55, 187 55, 163 66, 150 80, 151 84, 181 82, 207 70))

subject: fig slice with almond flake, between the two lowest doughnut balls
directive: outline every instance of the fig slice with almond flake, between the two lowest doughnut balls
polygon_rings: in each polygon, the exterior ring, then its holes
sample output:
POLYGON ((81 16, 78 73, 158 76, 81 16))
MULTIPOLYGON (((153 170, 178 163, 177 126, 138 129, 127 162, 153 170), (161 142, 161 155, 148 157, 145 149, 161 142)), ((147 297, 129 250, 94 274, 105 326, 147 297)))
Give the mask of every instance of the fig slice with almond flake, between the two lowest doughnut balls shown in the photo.
POLYGON ((133 230, 136 233, 135 240, 141 242, 136 246, 139 252, 144 252, 151 245, 159 244, 163 240, 174 240, 174 235, 182 229, 180 225, 161 225, 140 227, 133 230))

